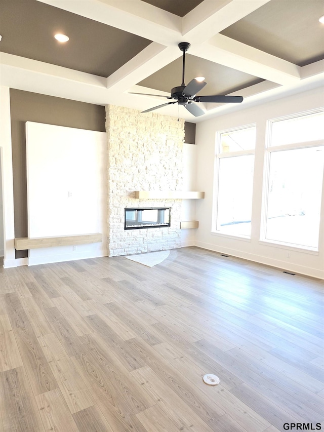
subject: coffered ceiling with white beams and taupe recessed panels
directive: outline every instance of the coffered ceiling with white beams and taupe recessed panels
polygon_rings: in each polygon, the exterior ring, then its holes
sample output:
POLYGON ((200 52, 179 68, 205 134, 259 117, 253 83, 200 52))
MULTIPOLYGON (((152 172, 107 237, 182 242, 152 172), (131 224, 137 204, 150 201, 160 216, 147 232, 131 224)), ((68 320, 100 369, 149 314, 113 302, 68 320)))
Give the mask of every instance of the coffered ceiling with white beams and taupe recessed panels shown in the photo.
MULTIPOLYGON (((96 104, 147 109, 182 81, 179 42, 189 42, 186 84, 199 95, 244 96, 155 112, 196 122, 262 100, 323 91, 324 0, 0 0, 0 82, 96 104), (61 44, 54 34, 64 33, 61 44), (235 106, 234 106, 235 105, 235 106), (239 105, 239 106, 238 106, 239 105)), ((177 105, 177 104, 176 104, 177 105)))

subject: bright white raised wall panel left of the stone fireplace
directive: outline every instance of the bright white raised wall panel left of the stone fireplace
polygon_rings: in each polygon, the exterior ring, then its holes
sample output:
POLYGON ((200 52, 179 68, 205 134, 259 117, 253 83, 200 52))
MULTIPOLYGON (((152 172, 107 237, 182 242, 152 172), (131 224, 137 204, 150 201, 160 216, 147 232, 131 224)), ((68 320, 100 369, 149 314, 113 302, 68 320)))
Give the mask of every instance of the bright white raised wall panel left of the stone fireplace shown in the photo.
POLYGON ((26 122, 28 237, 101 232, 95 244, 31 249, 28 264, 106 256, 104 132, 26 122))

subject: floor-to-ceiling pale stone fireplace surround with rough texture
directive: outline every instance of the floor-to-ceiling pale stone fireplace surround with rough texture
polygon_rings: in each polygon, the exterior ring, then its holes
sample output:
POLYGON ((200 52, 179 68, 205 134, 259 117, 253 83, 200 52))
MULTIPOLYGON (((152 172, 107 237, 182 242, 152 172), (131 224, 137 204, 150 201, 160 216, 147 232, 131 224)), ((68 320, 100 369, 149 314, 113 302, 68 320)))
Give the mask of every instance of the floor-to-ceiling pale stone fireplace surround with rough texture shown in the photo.
POLYGON ((136 190, 183 189, 184 121, 106 106, 108 256, 181 247, 180 199, 137 199, 136 190), (125 209, 171 209, 170 226, 125 229, 125 209))

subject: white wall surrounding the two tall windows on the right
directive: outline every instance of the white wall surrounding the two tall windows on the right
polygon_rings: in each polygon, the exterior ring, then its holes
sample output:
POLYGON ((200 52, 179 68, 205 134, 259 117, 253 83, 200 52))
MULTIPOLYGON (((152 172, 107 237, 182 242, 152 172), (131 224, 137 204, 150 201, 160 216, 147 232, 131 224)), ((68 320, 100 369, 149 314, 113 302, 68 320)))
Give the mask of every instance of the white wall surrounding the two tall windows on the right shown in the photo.
MULTIPOLYGON (((196 246, 273 265, 279 268, 308 274, 324 279, 324 217, 320 225, 319 251, 310 252, 286 246, 265 244, 259 241, 261 226, 261 199, 263 187, 263 163, 265 157, 266 122, 323 106, 322 90, 316 89, 279 99, 249 109, 243 109, 197 124, 197 190, 205 190, 205 200, 196 203, 199 228, 196 230, 196 246), (213 176, 216 132, 256 123, 254 195, 252 209, 251 241, 225 237, 211 232, 213 210, 213 176)), ((324 188, 323 188, 324 189, 324 188)), ((323 190, 324 194, 324 190, 323 190)), ((323 199, 324 201, 324 199, 323 199)), ((323 209, 323 206, 322 206, 323 209)))

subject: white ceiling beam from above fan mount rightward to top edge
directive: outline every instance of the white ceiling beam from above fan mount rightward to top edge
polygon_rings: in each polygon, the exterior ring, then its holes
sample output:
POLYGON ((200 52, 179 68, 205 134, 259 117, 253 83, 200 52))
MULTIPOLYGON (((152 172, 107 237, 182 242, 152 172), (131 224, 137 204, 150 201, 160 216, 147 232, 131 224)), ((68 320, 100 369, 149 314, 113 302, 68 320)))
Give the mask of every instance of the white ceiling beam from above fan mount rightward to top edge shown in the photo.
POLYGON ((205 0, 182 18, 182 35, 188 42, 201 44, 270 0, 205 0))

